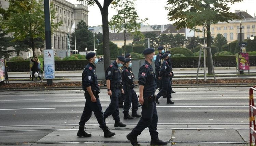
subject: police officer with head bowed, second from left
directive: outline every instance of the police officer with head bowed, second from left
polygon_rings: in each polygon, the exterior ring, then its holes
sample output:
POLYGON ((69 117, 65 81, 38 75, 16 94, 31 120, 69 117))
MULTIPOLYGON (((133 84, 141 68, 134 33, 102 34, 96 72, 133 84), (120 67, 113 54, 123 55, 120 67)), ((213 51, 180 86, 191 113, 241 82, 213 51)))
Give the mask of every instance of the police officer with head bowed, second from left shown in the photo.
MULTIPOLYGON (((118 109, 118 97, 121 92, 124 93, 121 84, 121 73, 119 68, 126 62, 123 56, 118 56, 117 59, 110 64, 106 70, 106 83, 108 88, 108 95, 110 96, 109 107, 105 110, 105 119, 112 115, 115 120, 115 127, 125 127, 126 125, 120 121, 118 109)), ((105 120, 104 120, 105 121, 105 120)))

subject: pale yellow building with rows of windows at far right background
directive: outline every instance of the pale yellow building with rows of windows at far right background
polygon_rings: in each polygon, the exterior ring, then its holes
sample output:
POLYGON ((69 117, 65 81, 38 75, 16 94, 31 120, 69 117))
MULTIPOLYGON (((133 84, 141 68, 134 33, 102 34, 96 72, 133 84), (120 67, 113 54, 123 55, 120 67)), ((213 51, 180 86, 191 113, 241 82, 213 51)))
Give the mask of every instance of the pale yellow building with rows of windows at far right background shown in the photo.
MULTIPOLYGON (((236 10, 235 14, 239 15, 240 10, 236 10)), ((256 17, 252 17, 245 11, 241 11, 242 15, 245 17, 242 20, 242 34, 244 34, 244 39, 249 39, 251 35, 256 34, 256 17)), ((255 14, 254 14, 255 15, 255 14)), ((238 34, 240 33, 240 20, 232 20, 227 22, 218 22, 217 24, 211 24, 211 36, 216 37, 217 34, 222 34, 228 41, 228 43, 237 40, 238 34)), ((202 26, 198 26, 197 29, 203 31, 202 26)), ((203 38, 203 33, 195 32, 195 37, 203 38)), ((205 33, 206 36, 206 33, 205 33)), ((243 38, 243 37, 242 37, 243 38)))

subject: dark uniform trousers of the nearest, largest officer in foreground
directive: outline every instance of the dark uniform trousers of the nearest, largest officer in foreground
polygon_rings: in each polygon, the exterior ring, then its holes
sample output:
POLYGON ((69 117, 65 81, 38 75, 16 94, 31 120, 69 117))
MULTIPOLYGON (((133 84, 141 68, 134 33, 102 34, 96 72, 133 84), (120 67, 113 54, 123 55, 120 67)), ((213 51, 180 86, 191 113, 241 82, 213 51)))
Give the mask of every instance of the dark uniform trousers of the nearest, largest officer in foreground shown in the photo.
MULTIPOLYGON (((149 97, 144 96, 145 97, 149 97)), ((156 111, 156 102, 155 100, 151 103, 148 103, 148 106, 143 104, 141 106, 141 118, 136 125, 136 127, 132 130, 132 135, 138 136, 141 134, 141 132, 148 127, 151 139, 157 139, 158 138, 158 132, 157 130, 157 122, 158 122, 158 116, 156 111)))

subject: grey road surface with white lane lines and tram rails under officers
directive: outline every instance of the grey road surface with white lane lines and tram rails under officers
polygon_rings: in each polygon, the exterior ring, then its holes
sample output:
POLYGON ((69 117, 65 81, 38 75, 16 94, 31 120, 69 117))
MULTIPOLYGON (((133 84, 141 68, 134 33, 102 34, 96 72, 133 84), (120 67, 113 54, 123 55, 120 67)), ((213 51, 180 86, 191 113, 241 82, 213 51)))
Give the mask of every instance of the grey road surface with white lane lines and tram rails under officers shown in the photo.
MULTIPOLYGON (((138 93, 138 89, 135 90, 138 93)), ((246 146, 248 142, 248 88, 175 88, 175 104, 160 98, 157 104, 158 132, 168 145, 246 146)), ((157 94, 157 92, 156 92, 157 94)), ((110 98, 101 90, 103 111, 110 98)), ((114 127, 112 117, 106 123, 116 135, 104 138, 95 116, 86 123, 91 138, 77 138, 77 123, 84 108, 82 90, 4 91, 0 92, 0 145, 25 146, 130 146, 126 135, 138 118, 121 121, 127 127, 114 127)), ((139 108, 138 113, 141 112, 139 108)), ((138 136, 142 145, 150 145, 148 129, 138 136)))

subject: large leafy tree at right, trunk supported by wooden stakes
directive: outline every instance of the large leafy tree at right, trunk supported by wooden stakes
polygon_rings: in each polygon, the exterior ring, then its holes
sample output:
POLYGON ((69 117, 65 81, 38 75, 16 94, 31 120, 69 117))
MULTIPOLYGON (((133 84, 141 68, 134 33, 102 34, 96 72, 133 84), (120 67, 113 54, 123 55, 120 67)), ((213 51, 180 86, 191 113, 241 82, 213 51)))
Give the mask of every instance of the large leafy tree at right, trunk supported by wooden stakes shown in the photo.
MULTIPOLYGON (((189 28, 194 31, 197 26, 206 27, 207 46, 211 46, 211 24, 218 22, 228 22, 228 20, 238 19, 238 16, 231 13, 228 4, 241 2, 242 0, 168 0, 166 10, 169 21, 176 21, 176 29, 189 28)), ((210 56, 210 50, 207 50, 210 56)), ((208 74, 212 74, 210 57, 207 57, 208 74)))

